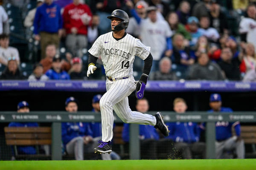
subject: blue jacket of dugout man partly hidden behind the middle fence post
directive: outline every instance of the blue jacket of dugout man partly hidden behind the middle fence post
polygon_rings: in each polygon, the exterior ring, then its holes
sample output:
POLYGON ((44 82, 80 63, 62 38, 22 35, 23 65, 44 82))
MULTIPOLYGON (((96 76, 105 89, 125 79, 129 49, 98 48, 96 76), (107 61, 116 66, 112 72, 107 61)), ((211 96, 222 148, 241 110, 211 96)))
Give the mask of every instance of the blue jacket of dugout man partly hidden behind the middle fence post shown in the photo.
MULTIPOLYGON (((123 131, 122 131, 122 139, 125 142, 129 142, 129 124, 124 123, 123 131)), ((157 130, 151 125, 139 125, 140 129, 140 139, 159 139, 159 135, 157 130)))

